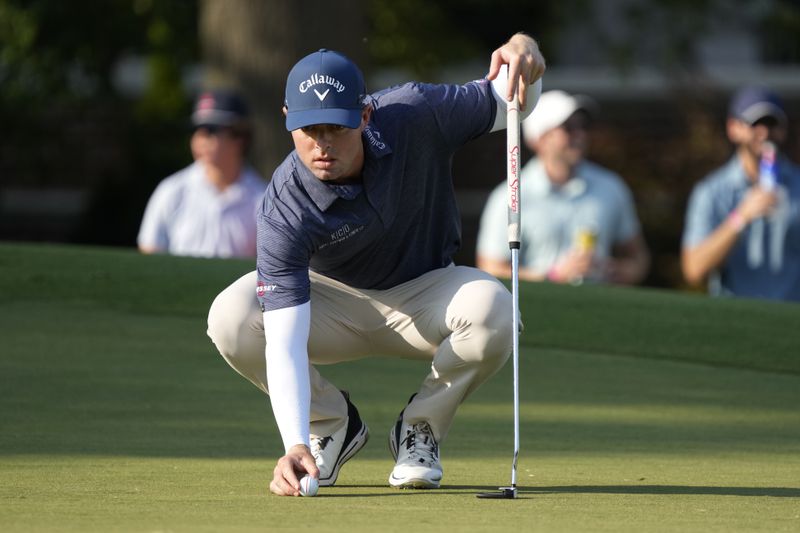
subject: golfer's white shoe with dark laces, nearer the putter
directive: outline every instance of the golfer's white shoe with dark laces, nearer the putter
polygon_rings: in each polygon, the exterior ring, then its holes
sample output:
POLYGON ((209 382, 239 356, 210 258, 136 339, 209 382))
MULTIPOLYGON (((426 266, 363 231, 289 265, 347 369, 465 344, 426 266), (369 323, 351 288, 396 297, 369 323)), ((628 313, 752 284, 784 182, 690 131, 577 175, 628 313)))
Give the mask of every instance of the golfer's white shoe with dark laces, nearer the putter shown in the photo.
POLYGON ((401 489, 436 489, 442 481, 439 445, 427 422, 410 425, 400 413, 389 432, 389 449, 397 461, 389 484, 401 489))

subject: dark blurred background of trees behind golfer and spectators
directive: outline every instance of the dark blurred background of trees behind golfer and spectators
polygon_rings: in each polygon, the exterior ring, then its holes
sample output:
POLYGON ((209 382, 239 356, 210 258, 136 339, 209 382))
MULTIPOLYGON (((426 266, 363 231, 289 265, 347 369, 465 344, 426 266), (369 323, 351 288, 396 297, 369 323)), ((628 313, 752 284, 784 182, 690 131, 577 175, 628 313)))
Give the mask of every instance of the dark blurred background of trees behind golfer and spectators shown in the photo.
MULTIPOLYGON (((443 81, 453 65, 483 75, 491 51, 526 31, 552 71, 605 67, 624 80, 645 66, 673 82, 652 94, 593 95, 590 155, 634 192, 654 254, 647 284, 680 287, 686 197, 730 154, 731 88, 697 74, 695 41, 715 25, 745 23, 763 63, 800 63, 800 3, 742 2, 737 13, 714 0, 616 4, 609 25, 589 0, 348 0, 334 11, 319 0, 0 0, 0 239, 133 246, 155 185, 190 162, 187 117, 204 84, 244 90, 257 114, 251 159, 269 177, 289 149, 279 108, 301 55, 338 48, 368 80, 399 71, 443 81), (575 31, 593 45, 575 49, 575 31)), ((784 96, 796 116, 800 95, 784 96)), ((461 263, 473 262, 482 201, 504 178, 503 142, 480 139, 454 161, 461 263)), ((793 131, 787 152, 800 159, 793 131)))

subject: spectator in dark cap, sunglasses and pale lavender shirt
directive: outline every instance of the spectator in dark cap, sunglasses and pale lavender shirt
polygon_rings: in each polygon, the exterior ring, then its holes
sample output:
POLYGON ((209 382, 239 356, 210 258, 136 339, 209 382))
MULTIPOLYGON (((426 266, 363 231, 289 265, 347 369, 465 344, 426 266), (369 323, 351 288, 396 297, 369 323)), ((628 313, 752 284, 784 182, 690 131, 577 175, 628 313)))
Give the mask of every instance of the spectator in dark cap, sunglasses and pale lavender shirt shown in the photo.
POLYGON ((204 92, 192 125, 194 163, 156 187, 139 229, 139 249, 255 257, 256 213, 266 183, 245 162, 251 140, 247 107, 234 92, 204 92))

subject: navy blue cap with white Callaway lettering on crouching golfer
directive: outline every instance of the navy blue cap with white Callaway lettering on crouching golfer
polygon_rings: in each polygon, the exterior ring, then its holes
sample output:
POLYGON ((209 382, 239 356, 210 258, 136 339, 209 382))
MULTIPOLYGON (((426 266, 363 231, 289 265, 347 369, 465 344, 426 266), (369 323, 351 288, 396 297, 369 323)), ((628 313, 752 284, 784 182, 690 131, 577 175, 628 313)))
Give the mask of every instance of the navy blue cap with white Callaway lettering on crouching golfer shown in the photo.
POLYGON ((366 92, 364 76, 348 58, 324 48, 309 54, 286 79, 286 129, 315 124, 357 128, 366 92))

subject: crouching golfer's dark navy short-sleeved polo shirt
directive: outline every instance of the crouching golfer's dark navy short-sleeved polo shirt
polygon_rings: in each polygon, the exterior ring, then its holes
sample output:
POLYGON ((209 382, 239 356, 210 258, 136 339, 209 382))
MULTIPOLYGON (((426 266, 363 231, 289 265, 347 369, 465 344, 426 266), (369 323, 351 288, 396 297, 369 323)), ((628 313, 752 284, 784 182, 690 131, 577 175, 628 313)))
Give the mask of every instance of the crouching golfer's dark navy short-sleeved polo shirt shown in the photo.
POLYGON ((308 302, 308 271, 388 289, 452 262, 461 217, 455 151, 490 130, 490 83, 408 83, 372 95, 362 182, 325 183, 293 151, 258 216, 257 295, 264 311, 308 302))

